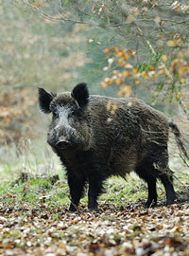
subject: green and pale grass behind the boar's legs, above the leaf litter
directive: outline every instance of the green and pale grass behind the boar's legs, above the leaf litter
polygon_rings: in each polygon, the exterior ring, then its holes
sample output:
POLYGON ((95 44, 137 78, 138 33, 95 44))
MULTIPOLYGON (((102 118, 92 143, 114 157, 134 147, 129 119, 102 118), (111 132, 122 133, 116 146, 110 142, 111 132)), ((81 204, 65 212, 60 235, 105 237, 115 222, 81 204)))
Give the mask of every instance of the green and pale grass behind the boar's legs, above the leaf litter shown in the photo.
MULTIPOLYGON (((50 149, 25 143, 25 147, 8 147, 0 162, 0 202, 8 206, 25 203, 38 207, 43 203, 68 208, 70 204, 69 188, 59 158, 50 149)), ((175 165, 175 159, 172 160, 175 165)), ((180 162, 177 163, 180 166, 180 162)), ((189 193, 189 175, 187 168, 175 172, 174 184, 178 194, 189 193)), ((112 204, 124 208, 129 203, 146 200, 147 186, 136 174, 129 174, 126 180, 113 176, 105 183, 105 193, 100 195, 99 205, 112 204)), ((161 182, 157 183, 158 202, 165 203, 165 192, 161 182)), ((183 198, 184 200, 184 198, 183 198)), ((86 208, 87 192, 81 199, 81 207, 86 208)))

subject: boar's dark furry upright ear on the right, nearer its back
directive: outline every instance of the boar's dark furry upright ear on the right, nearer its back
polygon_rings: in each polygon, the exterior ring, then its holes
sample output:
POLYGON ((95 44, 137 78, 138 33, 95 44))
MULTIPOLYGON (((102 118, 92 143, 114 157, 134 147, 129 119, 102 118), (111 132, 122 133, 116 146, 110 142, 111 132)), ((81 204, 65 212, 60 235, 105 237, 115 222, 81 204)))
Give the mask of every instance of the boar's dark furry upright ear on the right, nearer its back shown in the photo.
POLYGON ((85 82, 78 83, 73 91, 72 97, 78 102, 80 107, 86 105, 89 101, 89 91, 85 82))

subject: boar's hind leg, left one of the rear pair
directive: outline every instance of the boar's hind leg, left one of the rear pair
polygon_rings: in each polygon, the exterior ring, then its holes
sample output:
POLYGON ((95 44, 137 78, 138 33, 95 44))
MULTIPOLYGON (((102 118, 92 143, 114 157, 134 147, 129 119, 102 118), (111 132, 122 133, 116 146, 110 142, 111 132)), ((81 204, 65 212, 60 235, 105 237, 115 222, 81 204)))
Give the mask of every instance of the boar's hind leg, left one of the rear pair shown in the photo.
POLYGON ((146 167, 140 167, 136 173, 146 181, 148 189, 148 197, 145 208, 157 205, 156 177, 149 172, 146 167))

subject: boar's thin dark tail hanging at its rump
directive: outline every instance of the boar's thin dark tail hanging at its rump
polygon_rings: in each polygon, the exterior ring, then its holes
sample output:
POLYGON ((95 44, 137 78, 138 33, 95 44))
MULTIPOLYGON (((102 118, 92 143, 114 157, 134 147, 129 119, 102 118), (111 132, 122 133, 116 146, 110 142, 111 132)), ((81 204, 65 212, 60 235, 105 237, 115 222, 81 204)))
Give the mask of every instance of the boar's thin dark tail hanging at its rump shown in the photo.
POLYGON ((189 159, 189 155, 185 149, 185 146, 184 146, 181 134, 180 134, 180 129, 174 121, 169 121, 169 127, 171 128, 172 133, 175 135, 176 142, 177 142, 178 148, 180 150, 180 156, 181 156, 182 160, 184 161, 184 163, 188 166, 188 164, 186 163, 186 160, 184 158, 189 159), (184 155, 184 157, 182 155, 184 155))

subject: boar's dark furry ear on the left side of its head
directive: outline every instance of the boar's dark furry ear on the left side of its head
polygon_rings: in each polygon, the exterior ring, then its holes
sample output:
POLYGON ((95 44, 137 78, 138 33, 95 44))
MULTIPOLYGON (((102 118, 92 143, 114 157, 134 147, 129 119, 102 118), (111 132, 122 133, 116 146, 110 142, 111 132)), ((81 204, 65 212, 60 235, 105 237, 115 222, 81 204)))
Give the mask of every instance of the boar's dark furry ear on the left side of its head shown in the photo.
POLYGON ((43 88, 38 88, 38 92, 40 109, 43 111, 43 113, 49 114, 51 112, 49 105, 55 95, 47 93, 43 88))

